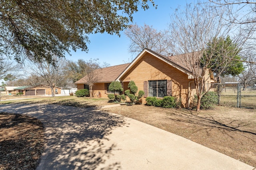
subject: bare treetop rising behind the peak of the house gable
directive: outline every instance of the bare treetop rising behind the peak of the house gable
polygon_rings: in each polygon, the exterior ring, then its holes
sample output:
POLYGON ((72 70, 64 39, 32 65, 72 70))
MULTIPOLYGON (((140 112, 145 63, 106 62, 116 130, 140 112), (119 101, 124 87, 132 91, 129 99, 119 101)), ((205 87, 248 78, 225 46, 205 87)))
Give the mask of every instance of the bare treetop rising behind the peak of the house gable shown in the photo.
POLYGON ((135 24, 126 29, 124 33, 130 39, 129 51, 132 54, 138 55, 145 47, 162 55, 170 53, 171 43, 166 30, 157 31, 146 24, 141 27, 135 24))

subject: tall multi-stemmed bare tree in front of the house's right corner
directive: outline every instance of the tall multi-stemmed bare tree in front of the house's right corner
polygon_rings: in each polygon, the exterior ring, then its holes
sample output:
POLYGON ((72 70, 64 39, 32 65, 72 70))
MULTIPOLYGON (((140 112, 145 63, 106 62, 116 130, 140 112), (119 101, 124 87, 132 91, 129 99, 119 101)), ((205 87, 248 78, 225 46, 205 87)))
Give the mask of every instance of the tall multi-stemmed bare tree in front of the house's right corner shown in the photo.
MULTIPOLYGON (((227 23, 223 15, 225 11, 219 10, 217 15, 206 4, 198 3, 195 6, 187 4, 184 11, 176 10, 171 18, 170 31, 175 44, 173 51, 176 54, 184 54, 180 62, 193 74, 198 97, 197 111, 200 111, 200 101, 206 93, 204 85, 210 78, 208 70, 215 72, 212 59, 216 57, 216 53, 220 53, 218 56, 220 58, 232 58, 230 51, 227 50, 229 47, 222 46, 221 52, 216 51, 218 49, 216 46, 220 45, 219 37, 232 35, 231 39, 238 48, 242 46, 246 37, 234 29, 231 23, 227 23), (206 50, 207 48, 212 49, 210 53, 206 50)), ((216 61, 219 61, 218 58, 216 61)), ((214 64, 215 69, 222 69, 218 70, 218 74, 221 75, 226 66, 223 62, 216 64, 221 65, 219 67, 214 64)))

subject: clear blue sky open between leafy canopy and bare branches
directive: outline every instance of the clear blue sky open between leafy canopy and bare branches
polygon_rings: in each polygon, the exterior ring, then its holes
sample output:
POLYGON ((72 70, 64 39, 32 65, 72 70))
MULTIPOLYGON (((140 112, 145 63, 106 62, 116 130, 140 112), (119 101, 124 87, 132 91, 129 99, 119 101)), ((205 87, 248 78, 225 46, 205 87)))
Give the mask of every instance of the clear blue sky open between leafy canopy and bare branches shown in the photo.
MULTIPOLYGON (((190 1, 186 0, 155 0, 158 5, 155 9, 151 4, 146 11, 139 8, 139 11, 133 15, 134 22, 143 26, 144 23, 152 25, 154 29, 168 29, 170 23, 170 15, 178 7, 184 7, 190 1)), ((89 60, 99 59, 100 63, 109 63, 110 66, 127 63, 131 54, 128 52, 129 39, 121 32, 121 37, 118 35, 109 35, 107 33, 97 33, 89 35, 90 44, 88 44, 88 53, 77 50, 72 51, 72 56, 66 55, 66 59, 77 61, 78 59, 89 60)))

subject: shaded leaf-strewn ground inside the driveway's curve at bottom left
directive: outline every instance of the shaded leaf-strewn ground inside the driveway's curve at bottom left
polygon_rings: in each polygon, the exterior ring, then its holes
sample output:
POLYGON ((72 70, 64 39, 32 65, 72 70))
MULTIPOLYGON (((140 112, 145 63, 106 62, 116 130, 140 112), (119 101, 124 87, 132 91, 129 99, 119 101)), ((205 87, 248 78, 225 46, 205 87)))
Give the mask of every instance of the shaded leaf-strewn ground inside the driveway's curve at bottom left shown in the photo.
POLYGON ((44 149, 44 128, 38 119, 0 113, 0 137, 0 170, 36 169, 44 149))

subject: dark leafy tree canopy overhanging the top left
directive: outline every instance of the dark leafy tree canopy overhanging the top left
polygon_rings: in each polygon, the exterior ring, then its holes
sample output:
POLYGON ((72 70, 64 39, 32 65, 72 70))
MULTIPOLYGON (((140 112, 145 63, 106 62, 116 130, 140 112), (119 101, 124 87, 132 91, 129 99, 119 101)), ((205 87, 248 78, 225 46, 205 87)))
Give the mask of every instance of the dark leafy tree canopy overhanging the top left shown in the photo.
POLYGON ((0 51, 22 62, 87 51, 90 33, 117 34, 153 0, 1 0, 0 51))

